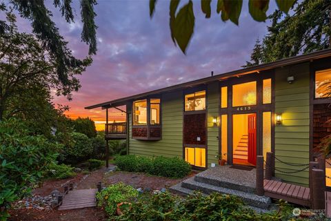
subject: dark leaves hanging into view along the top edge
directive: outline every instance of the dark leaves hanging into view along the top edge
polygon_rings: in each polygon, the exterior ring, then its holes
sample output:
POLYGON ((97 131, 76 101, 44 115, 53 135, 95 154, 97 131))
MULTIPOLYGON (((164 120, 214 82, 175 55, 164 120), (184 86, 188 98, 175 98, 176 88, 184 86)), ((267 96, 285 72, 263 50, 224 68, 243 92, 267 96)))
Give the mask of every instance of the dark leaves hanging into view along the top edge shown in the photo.
MULTIPOLYGON (((279 10, 288 13, 293 6, 295 0, 275 0, 279 10)), ((176 14, 180 0, 170 1, 170 32, 172 41, 179 46, 185 54, 188 44, 192 39, 194 32, 194 12, 193 2, 189 0, 176 14)), ((201 0, 201 11, 205 14, 205 18, 210 18, 212 9, 212 0, 201 0)), ((154 15, 155 5, 157 0, 150 0, 150 17, 154 15)), ((269 0, 250 0, 248 1, 248 8, 250 15, 255 21, 265 21, 267 19, 266 12, 269 8, 269 0)), ((237 26, 239 24, 239 17, 241 15, 241 8, 243 0, 218 0, 217 14, 221 13, 222 21, 232 21, 237 26)))

